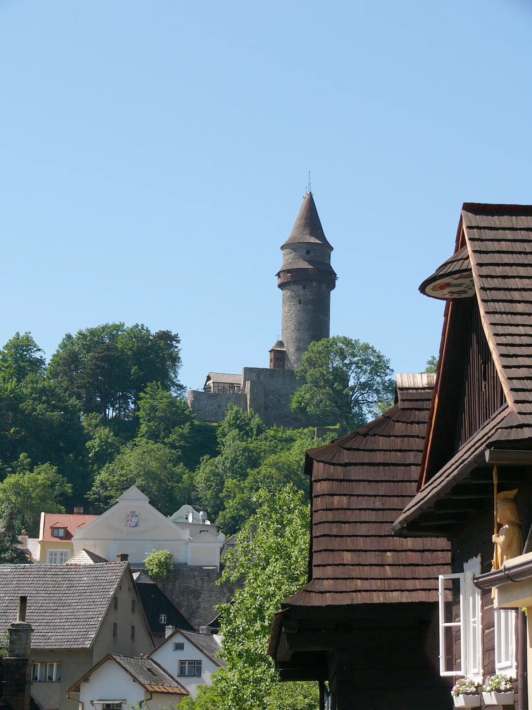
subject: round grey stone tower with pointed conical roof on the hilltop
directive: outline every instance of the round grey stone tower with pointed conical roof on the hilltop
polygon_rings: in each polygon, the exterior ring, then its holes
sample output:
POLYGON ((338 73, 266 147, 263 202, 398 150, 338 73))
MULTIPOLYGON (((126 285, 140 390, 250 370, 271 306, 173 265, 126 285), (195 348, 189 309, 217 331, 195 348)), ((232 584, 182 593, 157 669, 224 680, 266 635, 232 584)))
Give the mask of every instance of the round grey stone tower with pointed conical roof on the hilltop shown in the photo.
POLYGON ((311 342, 329 337, 331 291, 336 285, 333 247, 323 234, 311 192, 306 193, 292 234, 281 250, 282 267, 277 273, 277 286, 282 290, 281 338, 285 367, 295 370, 311 342))

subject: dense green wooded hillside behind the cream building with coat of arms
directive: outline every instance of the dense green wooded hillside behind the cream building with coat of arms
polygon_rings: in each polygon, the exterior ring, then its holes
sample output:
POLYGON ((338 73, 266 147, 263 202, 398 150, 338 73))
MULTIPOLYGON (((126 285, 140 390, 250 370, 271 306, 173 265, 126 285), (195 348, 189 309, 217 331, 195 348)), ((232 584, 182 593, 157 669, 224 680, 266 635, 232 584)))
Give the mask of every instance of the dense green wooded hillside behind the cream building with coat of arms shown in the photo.
POLYGON ((230 408, 196 422, 179 382, 179 337, 143 325, 67 334, 46 364, 30 333, 0 351, 0 517, 38 532, 41 510, 101 513, 132 484, 170 515, 196 507, 235 532, 259 488, 305 491, 314 430, 266 430, 230 408))

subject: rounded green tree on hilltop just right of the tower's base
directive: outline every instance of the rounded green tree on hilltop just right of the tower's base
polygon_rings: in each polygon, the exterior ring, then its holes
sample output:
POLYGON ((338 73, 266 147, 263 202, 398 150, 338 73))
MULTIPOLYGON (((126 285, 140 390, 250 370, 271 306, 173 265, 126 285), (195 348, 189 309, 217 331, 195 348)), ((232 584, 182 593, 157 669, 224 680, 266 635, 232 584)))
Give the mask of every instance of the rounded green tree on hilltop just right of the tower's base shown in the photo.
POLYGON ((378 414, 377 405, 394 394, 389 359, 373 346, 348 337, 311 343, 296 371, 305 383, 292 409, 311 417, 333 417, 342 432, 357 429, 378 414))

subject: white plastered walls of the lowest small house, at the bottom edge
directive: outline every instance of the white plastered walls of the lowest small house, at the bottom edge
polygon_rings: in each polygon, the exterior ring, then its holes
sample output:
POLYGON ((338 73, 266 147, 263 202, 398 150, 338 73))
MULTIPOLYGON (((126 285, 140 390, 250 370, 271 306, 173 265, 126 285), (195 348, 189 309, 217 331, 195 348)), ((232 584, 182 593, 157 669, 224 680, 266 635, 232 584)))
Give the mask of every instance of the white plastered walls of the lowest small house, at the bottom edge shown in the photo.
MULTIPOLYGON (((102 710, 102 701, 121 703, 123 710, 130 710, 140 702, 143 708, 150 710, 171 710, 183 697, 186 696, 148 692, 118 663, 108 658, 90 674, 88 682, 80 684, 79 710, 102 710)), ((73 697, 70 699, 74 700, 73 697)))

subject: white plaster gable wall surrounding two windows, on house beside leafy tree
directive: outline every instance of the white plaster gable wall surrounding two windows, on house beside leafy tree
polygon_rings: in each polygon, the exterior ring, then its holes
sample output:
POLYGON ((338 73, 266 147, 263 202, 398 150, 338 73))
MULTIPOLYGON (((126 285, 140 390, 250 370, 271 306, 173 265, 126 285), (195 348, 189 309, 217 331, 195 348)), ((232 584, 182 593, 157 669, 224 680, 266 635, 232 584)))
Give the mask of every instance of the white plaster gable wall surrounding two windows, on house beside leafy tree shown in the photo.
MULTIPOLYGON (((214 636, 218 645, 221 643, 219 636, 214 636)), ((193 698, 196 697, 199 685, 211 685, 211 675, 216 673, 220 665, 217 665, 209 656, 206 656, 194 643, 191 643, 188 638, 185 638, 179 630, 176 630, 172 635, 157 646, 149 654, 150 658, 157 661, 159 665, 167 670, 171 675, 177 678, 179 682, 187 688, 193 698), (176 648, 182 644, 183 648, 176 648), (175 650, 174 650, 175 649, 175 650), (186 676, 179 675, 180 661, 201 661, 201 676, 186 676)))

